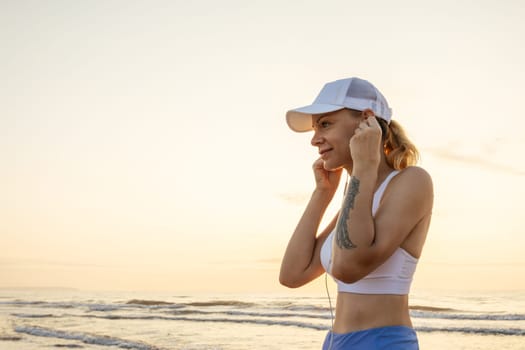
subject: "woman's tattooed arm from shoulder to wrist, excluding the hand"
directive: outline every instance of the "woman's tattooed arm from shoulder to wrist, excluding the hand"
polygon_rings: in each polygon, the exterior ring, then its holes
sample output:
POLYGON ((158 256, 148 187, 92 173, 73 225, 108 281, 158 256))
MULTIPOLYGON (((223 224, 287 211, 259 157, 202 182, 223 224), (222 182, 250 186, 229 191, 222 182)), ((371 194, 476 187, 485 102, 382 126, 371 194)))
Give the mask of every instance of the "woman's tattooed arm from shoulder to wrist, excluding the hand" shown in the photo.
POLYGON ((352 183, 345 203, 344 229, 336 231, 334 240, 332 274, 335 278, 353 283, 375 270, 401 246, 419 222, 432 211, 433 186, 429 174, 418 167, 404 169, 392 179, 382 198, 381 205, 372 217, 373 188, 368 181, 357 179, 357 190, 352 183), (365 186, 361 186, 362 183, 365 186))

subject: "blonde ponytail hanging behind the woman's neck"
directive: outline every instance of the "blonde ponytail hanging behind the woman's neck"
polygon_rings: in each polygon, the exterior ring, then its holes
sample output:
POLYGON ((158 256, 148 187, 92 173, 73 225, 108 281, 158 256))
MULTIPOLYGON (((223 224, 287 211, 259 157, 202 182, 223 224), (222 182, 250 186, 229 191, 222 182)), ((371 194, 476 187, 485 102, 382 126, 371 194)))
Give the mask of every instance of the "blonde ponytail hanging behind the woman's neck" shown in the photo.
POLYGON ((397 170, 416 165, 419 160, 419 152, 401 124, 395 120, 387 124, 383 119, 377 119, 382 124, 382 129, 386 130, 383 145, 387 164, 397 170))

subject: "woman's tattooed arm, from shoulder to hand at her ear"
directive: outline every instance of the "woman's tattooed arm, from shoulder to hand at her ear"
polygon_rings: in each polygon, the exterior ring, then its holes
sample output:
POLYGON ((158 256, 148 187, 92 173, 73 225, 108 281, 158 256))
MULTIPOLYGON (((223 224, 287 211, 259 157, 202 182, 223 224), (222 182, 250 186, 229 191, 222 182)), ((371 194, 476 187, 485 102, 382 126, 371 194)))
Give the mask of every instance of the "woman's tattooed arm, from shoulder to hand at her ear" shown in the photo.
POLYGON ((336 225, 332 275, 353 283, 381 265, 403 243, 417 223, 430 215, 432 180, 410 167, 389 185, 375 217, 372 201, 381 162, 381 131, 375 118, 361 122, 350 140, 353 168, 336 225))

